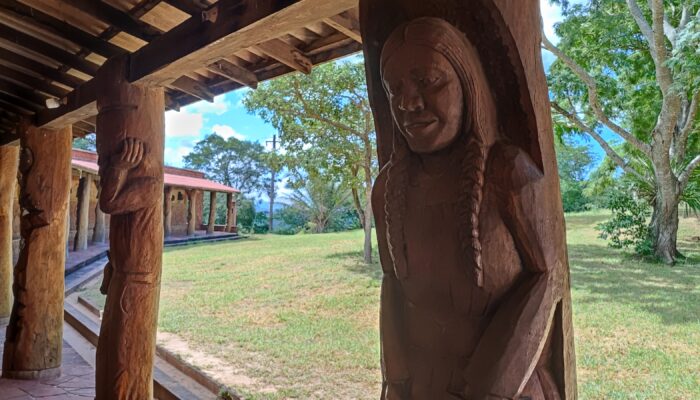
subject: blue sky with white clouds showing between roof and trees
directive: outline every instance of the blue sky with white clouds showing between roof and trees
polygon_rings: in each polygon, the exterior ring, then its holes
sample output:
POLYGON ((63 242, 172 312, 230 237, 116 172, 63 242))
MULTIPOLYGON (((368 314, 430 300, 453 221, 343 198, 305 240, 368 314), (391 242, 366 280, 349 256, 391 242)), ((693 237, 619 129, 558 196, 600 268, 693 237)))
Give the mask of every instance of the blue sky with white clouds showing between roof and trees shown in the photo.
MULTIPOLYGON (((577 0, 578 1, 578 0, 577 0)), ((554 24, 562 19, 558 6, 549 0, 540 0, 545 33, 554 43, 558 38, 554 34, 554 24)), ((543 52, 547 68, 554 61, 554 56, 543 52)), ((206 136, 216 133, 224 138, 252 140, 265 143, 276 133, 275 129, 260 118, 248 114, 241 99, 248 89, 241 89, 216 97, 213 103, 200 101, 183 107, 180 112, 168 111, 165 114, 165 162, 168 165, 183 166, 182 159, 206 136)), ((610 136, 611 134, 605 135, 610 136)), ((584 139, 581 139, 584 140, 584 139)), ((592 143, 591 140, 586 140, 592 143)), ((592 148, 602 159, 602 150, 592 143, 592 148)))

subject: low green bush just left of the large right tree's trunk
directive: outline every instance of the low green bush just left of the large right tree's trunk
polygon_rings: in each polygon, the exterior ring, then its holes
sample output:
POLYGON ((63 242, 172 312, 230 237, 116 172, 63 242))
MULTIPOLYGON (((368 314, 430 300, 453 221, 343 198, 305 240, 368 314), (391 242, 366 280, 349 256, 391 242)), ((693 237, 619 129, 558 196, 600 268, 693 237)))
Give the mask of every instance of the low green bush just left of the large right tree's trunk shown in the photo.
POLYGON ((615 249, 632 247, 637 254, 653 254, 647 221, 651 212, 646 201, 635 198, 629 190, 614 192, 608 208, 612 218, 598 224, 599 237, 615 249))

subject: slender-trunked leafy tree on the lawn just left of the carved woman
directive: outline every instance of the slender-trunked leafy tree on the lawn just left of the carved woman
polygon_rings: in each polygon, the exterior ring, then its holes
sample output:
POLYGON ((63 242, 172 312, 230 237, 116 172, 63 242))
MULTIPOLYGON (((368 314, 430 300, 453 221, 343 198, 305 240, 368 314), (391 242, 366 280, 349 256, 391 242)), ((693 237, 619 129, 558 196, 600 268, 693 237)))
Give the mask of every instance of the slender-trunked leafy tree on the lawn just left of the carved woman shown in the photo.
POLYGON ((281 134, 292 176, 326 174, 347 184, 365 231, 364 259, 372 261, 372 182, 376 135, 362 63, 340 61, 260 85, 246 108, 281 134))

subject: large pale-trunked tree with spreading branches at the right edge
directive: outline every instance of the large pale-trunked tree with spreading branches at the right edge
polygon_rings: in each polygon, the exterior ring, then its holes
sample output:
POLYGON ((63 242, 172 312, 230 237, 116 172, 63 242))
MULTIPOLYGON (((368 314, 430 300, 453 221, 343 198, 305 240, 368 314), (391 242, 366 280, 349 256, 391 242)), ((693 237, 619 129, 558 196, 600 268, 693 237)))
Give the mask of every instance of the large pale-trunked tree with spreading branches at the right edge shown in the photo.
POLYGON ((673 263, 678 205, 696 187, 690 182, 700 165, 700 4, 558 2, 565 5, 561 42, 542 40, 557 57, 548 76, 555 122, 592 137, 625 174, 653 188, 654 252, 673 263), (624 151, 605 130, 624 140, 624 151))

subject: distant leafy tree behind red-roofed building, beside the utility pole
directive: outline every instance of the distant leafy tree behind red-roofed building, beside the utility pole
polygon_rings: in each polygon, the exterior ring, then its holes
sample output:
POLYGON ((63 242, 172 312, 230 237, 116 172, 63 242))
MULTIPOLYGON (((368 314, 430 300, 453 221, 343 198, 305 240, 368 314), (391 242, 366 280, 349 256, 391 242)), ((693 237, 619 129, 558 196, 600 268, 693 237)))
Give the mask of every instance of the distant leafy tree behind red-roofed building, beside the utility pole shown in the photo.
POLYGON ((268 166, 264 150, 256 142, 213 134, 198 142, 184 162, 189 168, 203 171, 209 179, 250 194, 265 190, 268 166))

